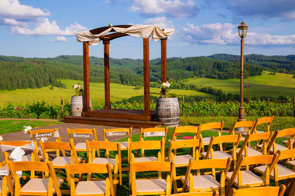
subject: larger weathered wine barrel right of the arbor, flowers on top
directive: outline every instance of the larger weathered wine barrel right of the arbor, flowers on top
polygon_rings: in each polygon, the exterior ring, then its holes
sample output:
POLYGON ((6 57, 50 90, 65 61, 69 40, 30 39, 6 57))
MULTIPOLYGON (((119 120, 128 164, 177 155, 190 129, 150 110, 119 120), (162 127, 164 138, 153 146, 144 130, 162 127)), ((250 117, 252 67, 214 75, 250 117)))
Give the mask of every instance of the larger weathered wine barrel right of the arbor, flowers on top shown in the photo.
POLYGON ((156 118, 163 122, 162 126, 174 127, 179 123, 179 104, 177 97, 157 98, 156 118))

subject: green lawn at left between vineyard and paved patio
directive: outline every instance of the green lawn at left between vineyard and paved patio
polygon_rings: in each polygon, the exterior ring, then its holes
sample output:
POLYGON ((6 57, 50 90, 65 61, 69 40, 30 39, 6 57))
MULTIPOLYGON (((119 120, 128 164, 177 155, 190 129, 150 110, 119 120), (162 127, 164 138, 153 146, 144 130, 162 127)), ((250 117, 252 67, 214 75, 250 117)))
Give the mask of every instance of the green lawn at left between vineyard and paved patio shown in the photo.
POLYGON ((64 122, 60 121, 39 121, 39 120, 0 120, 0 135, 5 133, 14 133, 24 130, 23 126, 31 126, 32 128, 44 127, 48 125, 56 125, 64 122))

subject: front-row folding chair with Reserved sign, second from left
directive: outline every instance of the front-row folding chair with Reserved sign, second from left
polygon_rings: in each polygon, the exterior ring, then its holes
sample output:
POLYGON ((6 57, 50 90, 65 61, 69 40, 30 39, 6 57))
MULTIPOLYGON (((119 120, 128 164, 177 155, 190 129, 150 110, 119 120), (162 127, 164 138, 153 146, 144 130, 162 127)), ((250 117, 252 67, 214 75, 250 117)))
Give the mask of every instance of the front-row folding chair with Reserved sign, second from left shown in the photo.
MULTIPOLYGON (((71 142, 71 139, 75 138, 85 138, 85 141, 97 141, 97 136, 96 136, 96 129, 69 129, 67 128, 68 131, 68 137, 71 142)), ((86 152, 86 143, 85 142, 79 142, 75 145, 76 152, 86 152)))

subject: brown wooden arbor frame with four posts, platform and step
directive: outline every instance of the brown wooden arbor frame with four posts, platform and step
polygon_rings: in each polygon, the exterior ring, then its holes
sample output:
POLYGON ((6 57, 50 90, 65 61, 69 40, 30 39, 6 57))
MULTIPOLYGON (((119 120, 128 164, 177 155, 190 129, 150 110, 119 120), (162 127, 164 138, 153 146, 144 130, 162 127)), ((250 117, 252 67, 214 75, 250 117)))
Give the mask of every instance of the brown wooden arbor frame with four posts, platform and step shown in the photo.
MULTIPOLYGON (((128 28, 132 25, 117 25, 114 27, 128 28)), ((109 27, 101 27, 90 30, 93 35, 100 34, 106 31, 109 27)), ((110 32, 115 32, 111 30, 110 32)), ((144 70, 144 110, 127 110, 127 109, 112 109, 110 104, 110 80, 109 80, 109 45, 110 41, 129 36, 126 33, 115 32, 99 37, 104 44, 104 92, 105 105, 104 109, 91 110, 89 103, 89 42, 83 42, 83 78, 84 78, 84 108, 83 117, 65 117, 65 122, 68 123, 86 123, 95 125, 110 125, 119 127, 148 128, 161 127, 161 122, 155 120, 155 110, 150 109, 150 63, 149 63, 149 38, 143 38, 143 70, 144 70)), ((167 37, 161 40, 161 81, 167 81, 166 68, 166 40, 167 37)))

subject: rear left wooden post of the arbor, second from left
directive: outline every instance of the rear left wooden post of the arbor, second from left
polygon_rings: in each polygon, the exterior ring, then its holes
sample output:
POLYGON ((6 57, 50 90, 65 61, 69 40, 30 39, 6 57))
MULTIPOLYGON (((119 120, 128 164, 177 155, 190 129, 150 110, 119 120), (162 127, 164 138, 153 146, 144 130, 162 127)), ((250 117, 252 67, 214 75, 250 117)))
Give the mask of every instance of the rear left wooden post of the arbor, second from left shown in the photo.
POLYGON ((111 108, 110 103, 110 73, 109 73, 109 40, 104 40, 104 109, 111 108))

